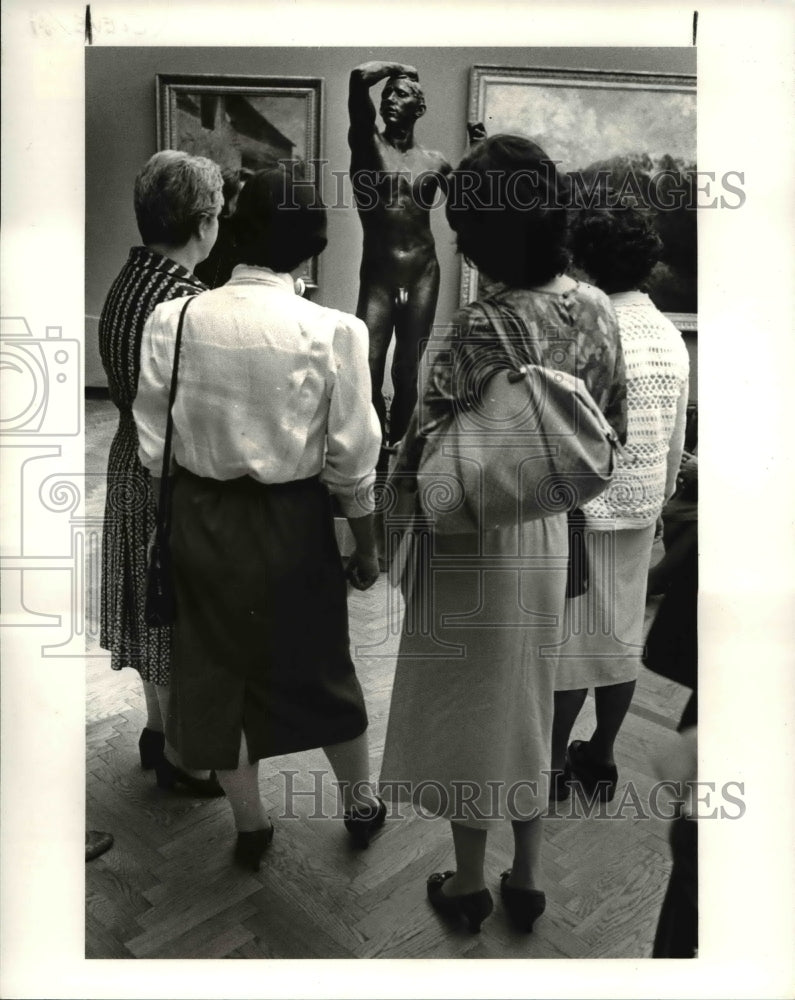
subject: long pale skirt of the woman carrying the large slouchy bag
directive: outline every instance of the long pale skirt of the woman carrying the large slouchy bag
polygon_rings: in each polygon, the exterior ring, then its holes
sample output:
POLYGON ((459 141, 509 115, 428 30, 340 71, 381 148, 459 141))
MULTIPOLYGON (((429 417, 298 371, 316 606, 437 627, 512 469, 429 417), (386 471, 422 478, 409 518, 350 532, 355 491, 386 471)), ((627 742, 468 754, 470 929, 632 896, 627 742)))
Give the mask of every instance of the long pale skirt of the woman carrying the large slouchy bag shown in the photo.
POLYGON ((381 794, 488 827, 548 800, 565 515, 437 544, 398 654, 381 794), (462 549, 464 550, 462 552, 462 549))

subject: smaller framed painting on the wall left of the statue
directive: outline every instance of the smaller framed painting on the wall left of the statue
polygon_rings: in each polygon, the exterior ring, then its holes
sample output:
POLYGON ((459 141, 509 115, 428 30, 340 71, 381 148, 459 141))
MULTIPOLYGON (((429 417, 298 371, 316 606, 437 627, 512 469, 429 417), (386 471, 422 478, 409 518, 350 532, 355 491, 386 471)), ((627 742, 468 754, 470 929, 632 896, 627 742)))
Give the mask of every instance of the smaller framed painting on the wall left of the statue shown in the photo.
MULTIPOLYGON (((317 77, 157 74, 158 149, 207 156, 242 179, 279 162, 320 159, 317 77)), ((300 274, 317 288, 318 260, 300 274)))

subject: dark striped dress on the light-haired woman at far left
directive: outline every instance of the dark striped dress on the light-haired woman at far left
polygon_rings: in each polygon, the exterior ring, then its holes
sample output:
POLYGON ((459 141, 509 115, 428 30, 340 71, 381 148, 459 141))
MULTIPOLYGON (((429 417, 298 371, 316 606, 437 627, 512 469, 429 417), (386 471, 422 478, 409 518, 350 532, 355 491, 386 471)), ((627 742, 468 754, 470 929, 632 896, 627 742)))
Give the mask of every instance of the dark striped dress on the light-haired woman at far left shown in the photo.
POLYGON ((205 286, 175 261, 133 247, 111 285, 99 319, 99 352, 119 426, 108 456, 102 531, 100 645, 111 667, 135 667, 142 680, 167 685, 171 629, 144 622, 146 548, 155 524, 156 498, 138 459, 132 404, 138 388, 141 336, 161 302, 196 294, 205 286))

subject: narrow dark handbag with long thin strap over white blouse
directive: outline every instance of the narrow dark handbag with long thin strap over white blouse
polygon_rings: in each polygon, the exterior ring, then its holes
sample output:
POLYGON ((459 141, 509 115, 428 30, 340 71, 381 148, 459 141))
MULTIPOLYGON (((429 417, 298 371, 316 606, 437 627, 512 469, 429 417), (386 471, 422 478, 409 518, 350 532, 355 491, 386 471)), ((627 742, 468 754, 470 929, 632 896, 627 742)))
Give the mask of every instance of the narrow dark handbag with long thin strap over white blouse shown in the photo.
POLYGON ((157 521, 147 555, 144 620, 147 625, 157 627, 173 625, 177 617, 174 578, 171 568, 171 548, 169 545, 171 531, 171 476, 169 473, 171 471, 171 437, 174 430, 171 409, 177 395, 177 372, 179 371, 182 327, 185 321, 185 313, 191 301, 192 299, 188 299, 182 307, 177 325, 177 336, 174 344, 174 368, 171 373, 171 389, 168 394, 168 416, 166 418, 166 436, 163 443, 163 470, 160 477, 157 521))

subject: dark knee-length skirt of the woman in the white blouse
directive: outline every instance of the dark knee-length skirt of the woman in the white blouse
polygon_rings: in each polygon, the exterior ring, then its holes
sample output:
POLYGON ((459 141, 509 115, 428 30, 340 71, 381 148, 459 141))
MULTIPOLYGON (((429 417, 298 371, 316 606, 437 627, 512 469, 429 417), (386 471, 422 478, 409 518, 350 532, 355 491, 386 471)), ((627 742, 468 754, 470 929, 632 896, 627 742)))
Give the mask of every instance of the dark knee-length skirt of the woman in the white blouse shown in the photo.
POLYGON ((347 584, 317 478, 174 482, 177 622, 168 737, 192 768, 328 746, 367 728, 347 584))

